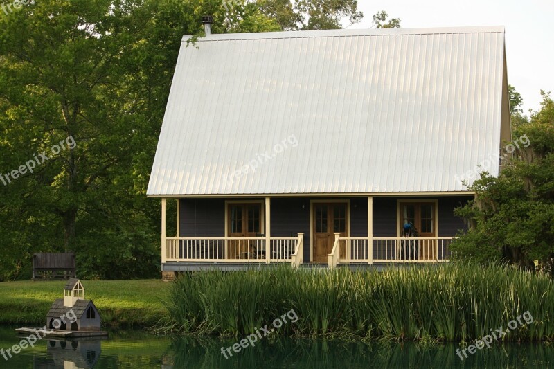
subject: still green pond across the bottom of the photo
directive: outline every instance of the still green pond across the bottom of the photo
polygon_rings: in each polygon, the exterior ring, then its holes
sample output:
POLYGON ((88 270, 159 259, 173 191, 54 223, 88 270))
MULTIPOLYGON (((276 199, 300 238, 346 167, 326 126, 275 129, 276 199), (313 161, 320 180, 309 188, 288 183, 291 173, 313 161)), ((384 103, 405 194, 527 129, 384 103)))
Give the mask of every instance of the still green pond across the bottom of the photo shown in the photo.
MULTIPOLYGON (((4 352, 23 338, 12 327, 0 327, 4 352)), ((253 347, 240 347, 237 353, 234 343, 235 339, 110 332, 102 341, 39 340, 11 358, 6 354, 8 360, 0 355, 0 368, 554 368, 554 345, 541 343, 495 345, 463 361, 454 344, 426 347, 268 337, 253 347)))

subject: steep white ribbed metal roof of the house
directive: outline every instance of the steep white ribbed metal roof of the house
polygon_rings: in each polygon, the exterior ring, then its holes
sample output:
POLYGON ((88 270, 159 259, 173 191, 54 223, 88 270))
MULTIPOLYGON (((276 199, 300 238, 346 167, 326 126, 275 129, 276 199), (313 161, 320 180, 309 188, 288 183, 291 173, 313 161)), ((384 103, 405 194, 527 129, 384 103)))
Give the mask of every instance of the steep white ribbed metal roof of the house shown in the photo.
POLYGON ((148 195, 463 191, 509 139, 503 27, 187 39, 148 195))

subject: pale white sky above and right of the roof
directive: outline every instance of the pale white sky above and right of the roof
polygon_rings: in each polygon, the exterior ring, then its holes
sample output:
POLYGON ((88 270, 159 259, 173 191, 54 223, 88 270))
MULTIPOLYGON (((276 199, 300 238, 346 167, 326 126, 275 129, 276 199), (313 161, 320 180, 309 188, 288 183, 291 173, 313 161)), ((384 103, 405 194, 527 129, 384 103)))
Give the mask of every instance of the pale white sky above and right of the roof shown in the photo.
POLYGON ((524 113, 539 110, 540 91, 554 96, 554 0, 358 0, 359 24, 370 28, 386 10, 402 28, 505 26, 508 83, 521 93, 524 113))

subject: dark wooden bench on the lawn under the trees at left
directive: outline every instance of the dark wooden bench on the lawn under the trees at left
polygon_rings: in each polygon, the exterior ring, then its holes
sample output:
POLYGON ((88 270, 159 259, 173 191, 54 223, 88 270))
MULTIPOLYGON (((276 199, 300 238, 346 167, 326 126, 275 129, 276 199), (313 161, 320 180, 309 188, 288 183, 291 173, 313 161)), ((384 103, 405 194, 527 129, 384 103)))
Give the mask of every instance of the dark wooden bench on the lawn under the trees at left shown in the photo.
POLYGON ((34 253, 33 280, 75 278, 74 253, 34 253))

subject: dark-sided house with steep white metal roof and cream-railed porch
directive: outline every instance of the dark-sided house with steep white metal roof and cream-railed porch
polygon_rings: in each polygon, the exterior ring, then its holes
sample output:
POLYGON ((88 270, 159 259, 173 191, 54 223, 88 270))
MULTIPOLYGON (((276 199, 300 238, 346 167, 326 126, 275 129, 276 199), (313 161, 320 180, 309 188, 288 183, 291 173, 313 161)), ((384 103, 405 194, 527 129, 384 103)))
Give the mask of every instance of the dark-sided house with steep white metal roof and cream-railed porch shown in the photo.
POLYGON ((449 259, 463 179, 511 139, 503 27, 188 39, 148 186, 162 271, 449 259))

